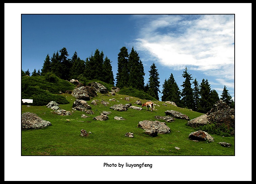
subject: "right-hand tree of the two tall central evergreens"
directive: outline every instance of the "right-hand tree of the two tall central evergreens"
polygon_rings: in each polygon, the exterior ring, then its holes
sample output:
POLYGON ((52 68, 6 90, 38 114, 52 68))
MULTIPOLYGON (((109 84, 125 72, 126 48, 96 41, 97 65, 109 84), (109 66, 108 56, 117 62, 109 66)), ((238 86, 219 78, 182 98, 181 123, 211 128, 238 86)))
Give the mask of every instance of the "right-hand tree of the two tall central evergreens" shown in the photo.
POLYGON ((128 58, 128 70, 130 71, 128 87, 144 90, 144 67, 138 53, 133 47, 128 58))

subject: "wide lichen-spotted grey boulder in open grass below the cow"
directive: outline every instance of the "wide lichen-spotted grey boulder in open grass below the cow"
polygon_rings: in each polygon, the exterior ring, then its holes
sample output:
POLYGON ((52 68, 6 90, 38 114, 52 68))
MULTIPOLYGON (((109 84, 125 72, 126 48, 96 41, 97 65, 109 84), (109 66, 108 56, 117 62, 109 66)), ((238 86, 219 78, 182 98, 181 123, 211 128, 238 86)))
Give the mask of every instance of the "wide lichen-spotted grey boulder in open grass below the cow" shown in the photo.
POLYGON ((149 121, 149 120, 140 121, 137 127, 143 128, 146 131, 147 130, 157 131, 160 134, 171 132, 170 128, 166 125, 166 123, 160 122, 160 121, 149 121))

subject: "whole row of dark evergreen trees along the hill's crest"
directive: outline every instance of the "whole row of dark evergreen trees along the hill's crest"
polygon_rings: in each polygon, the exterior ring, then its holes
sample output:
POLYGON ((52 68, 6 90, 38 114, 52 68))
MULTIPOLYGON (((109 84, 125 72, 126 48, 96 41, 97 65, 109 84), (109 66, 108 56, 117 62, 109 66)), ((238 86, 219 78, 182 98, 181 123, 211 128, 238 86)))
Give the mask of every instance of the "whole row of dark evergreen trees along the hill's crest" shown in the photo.
MULTIPOLYGON (((134 88, 147 92, 150 96, 159 100, 158 92, 160 82, 159 73, 156 69, 155 63, 152 63, 149 71, 149 80, 147 84, 144 83, 144 66, 140 60, 140 56, 132 47, 131 52, 128 53, 126 47, 122 47, 118 54, 118 72, 114 80, 111 62, 108 57, 104 58, 103 51, 96 49, 94 54, 91 54, 85 60, 80 59, 77 52, 68 59, 68 52, 66 48, 62 48, 57 53, 53 53, 51 58, 47 54, 44 64, 40 70, 32 72, 31 76, 41 76, 52 73, 63 80, 77 79, 79 81, 86 80, 100 80, 102 82, 114 85, 122 89, 125 87, 134 88)), ((29 70, 23 71, 22 76, 30 76, 29 70)), ((224 86, 221 98, 219 98, 216 90, 211 90, 208 80, 202 79, 199 84, 196 78, 193 80, 187 67, 182 74, 185 79, 179 89, 175 82, 174 76, 171 73, 169 79, 165 79, 162 90, 162 101, 173 101, 177 106, 187 109, 192 109, 196 112, 207 113, 218 100, 223 100, 231 108, 234 108, 234 101, 229 94, 226 86, 224 86), (191 83, 191 81, 193 82, 191 83), (193 84, 193 88, 192 88, 193 84)))

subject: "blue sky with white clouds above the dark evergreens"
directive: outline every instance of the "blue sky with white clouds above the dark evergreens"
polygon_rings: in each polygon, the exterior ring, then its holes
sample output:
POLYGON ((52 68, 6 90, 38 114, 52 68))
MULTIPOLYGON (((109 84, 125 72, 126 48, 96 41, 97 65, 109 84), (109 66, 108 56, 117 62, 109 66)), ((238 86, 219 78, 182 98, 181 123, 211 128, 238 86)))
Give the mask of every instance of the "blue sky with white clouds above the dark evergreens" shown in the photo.
POLYGON ((69 58, 76 51, 83 60, 99 49, 112 61, 115 78, 120 49, 130 53, 134 47, 145 84, 155 63, 161 92, 171 73, 182 90, 187 66, 193 79, 207 79, 219 97, 224 85, 235 97, 234 14, 23 14, 21 26, 23 71, 41 70, 46 55, 63 47, 69 58))

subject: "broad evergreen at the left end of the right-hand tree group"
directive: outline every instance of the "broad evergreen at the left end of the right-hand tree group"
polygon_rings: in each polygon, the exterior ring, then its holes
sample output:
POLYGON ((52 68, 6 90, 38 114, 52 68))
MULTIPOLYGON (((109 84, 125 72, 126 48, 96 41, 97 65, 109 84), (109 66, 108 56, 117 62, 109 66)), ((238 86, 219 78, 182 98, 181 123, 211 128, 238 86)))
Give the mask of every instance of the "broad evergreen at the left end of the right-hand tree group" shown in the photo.
POLYGON ((177 106, 181 105, 180 101, 180 90, 177 83, 174 80, 173 74, 171 73, 168 80, 165 79, 162 91, 162 101, 172 101, 177 106))

